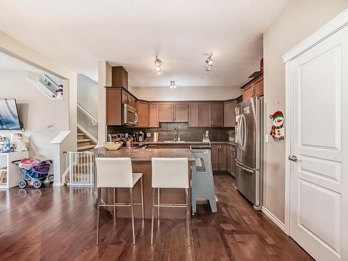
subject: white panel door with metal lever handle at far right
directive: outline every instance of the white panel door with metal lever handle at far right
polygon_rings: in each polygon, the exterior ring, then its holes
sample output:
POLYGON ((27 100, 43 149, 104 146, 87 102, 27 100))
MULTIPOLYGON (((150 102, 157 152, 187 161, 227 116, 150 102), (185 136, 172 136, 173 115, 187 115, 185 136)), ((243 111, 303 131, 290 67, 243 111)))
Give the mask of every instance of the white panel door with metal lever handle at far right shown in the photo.
POLYGON ((290 236, 348 260, 348 26, 290 61, 290 236))

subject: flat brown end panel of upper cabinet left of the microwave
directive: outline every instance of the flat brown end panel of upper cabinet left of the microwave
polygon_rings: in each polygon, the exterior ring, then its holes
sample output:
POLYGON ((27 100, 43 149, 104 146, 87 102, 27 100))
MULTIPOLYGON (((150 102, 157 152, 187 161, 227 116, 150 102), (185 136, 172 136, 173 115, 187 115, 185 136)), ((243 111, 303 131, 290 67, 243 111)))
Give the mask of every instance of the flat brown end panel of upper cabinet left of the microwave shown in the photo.
POLYGON ((106 125, 122 124, 122 90, 106 89, 106 125))

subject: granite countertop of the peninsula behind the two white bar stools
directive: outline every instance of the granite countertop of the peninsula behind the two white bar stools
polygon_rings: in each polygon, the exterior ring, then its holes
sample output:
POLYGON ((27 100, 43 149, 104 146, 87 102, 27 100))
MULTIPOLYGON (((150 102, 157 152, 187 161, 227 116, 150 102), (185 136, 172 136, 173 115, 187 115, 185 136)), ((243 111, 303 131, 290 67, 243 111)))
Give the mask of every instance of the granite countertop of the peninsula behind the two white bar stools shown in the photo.
POLYGON ((151 161, 152 157, 176 158, 187 157, 189 161, 196 158, 189 149, 137 149, 122 147, 120 150, 106 150, 96 148, 93 150, 96 157, 130 157, 132 161, 151 161))

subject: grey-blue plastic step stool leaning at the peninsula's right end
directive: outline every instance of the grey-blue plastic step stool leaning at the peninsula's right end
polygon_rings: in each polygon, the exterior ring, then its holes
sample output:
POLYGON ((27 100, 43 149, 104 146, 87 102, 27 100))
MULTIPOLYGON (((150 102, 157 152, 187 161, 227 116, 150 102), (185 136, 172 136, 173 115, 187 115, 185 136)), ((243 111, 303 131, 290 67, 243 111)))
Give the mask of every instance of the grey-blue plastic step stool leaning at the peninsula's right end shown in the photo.
POLYGON ((197 198, 207 199, 212 212, 217 212, 211 151, 191 150, 191 152, 196 157, 196 161, 192 165, 191 177, 192 214, 197 212, 197 198))

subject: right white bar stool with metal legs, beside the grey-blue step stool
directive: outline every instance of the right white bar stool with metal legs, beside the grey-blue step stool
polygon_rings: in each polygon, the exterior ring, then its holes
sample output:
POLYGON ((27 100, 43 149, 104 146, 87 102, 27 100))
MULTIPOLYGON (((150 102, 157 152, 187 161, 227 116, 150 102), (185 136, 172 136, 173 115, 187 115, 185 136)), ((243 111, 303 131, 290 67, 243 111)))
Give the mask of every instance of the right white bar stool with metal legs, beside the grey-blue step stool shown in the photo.
POLYGON ((186 221, 188 245, 191 246, 190 205, 189 205, 189 159, 187 158, 152 158, 152 220, 151 220, 151 245, 153 245, 153 230, 155 207, 159 219, 160 207, 186 207, 186 221), (156 189, 158 203, 155 203, 156 189), (185 189, 185 204, 159 203, 159 189, 185 189))

